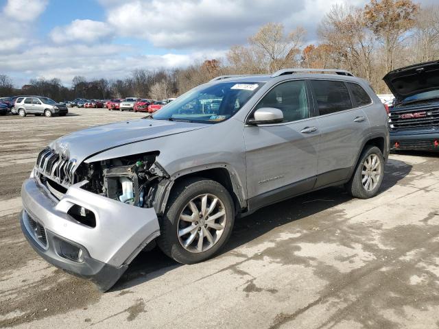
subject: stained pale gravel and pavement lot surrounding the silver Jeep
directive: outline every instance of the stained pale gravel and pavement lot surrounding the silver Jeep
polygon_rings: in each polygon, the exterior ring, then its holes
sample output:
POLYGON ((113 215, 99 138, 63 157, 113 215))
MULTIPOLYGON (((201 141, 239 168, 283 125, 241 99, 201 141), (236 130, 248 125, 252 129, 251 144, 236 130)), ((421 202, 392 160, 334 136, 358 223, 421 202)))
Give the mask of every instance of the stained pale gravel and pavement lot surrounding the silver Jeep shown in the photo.
POLYGON ((327 188, 238 220, 227 249, 179 265, 142 252, 108 293, 45 263, 17 219, 38 151, 143 117, 73 109, 0 119, 0 327, 437 328, 439 155, 392 154, 381 194, 327 188))

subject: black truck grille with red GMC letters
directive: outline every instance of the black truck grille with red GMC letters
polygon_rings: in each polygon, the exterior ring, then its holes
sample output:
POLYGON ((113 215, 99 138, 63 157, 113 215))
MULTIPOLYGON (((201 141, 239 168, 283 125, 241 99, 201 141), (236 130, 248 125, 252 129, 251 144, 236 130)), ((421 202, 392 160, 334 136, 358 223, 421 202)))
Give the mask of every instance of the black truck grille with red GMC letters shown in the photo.
POLYGON ((439 128, 439 108, 392 111, 389 114, 389 127, 391 131, 439 128))

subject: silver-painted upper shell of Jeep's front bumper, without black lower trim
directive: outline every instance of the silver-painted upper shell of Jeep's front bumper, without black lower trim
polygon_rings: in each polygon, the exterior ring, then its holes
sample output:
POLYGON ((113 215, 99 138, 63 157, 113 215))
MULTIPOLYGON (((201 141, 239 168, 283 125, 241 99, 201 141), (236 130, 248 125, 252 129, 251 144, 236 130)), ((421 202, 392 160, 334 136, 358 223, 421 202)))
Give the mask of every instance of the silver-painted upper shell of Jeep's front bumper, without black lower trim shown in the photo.
POLYGON ((130 258, 145 240, 152 241, 160 234, 154 209, 134 207, 96 195, 82 189, 83 184, 70 186, 58 202, 41 184, 29 178, 21 188, 23 208, 46 230, 83 245, 91 257, 115 267, 130 258), (67 215, 74 204, 95 212, 95 228, 82 225, 67 215))

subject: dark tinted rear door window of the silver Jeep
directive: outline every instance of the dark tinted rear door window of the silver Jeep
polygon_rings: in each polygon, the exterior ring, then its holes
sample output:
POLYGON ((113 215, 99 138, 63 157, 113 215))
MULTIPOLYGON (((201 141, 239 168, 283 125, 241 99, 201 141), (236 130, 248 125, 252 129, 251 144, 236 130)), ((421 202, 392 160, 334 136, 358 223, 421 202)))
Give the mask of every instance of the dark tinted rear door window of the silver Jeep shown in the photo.
POLYGON ((348 88, 342 81, 311 80, 320 115, 353 108, 348 88))

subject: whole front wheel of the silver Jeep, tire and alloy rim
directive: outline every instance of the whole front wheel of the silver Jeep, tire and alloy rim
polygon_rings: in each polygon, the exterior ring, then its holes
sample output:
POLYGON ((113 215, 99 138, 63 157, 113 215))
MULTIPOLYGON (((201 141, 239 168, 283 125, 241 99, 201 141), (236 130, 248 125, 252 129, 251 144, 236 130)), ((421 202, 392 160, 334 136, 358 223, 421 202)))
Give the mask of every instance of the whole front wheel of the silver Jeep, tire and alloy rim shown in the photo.
POLYGON ((169 197, 158 246, 179 263, 199 263, 226 244, 234 221, 233 200, 226 188, 213 180, 191 178, 169 197))

